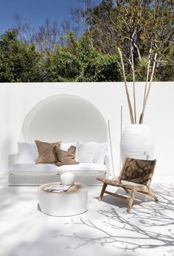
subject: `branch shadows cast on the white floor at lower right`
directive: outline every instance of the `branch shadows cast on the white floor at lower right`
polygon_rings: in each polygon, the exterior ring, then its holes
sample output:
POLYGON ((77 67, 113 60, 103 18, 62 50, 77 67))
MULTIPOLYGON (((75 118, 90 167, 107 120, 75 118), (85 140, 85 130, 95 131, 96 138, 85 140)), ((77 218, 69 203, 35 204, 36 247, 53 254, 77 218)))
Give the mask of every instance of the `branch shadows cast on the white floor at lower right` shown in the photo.
POLYGON ((168 249, 167 252, 174 253, 174 187, 171 184, 165 186, 156 184, 153 186, 153 191, 159 197, 158 203, 151 199, 136 203, 129 214, 124 206, 123 208, 117 206, 120 202, 117 198, 115 198, 116 204, 108 205, 109 197, 107 196, 105 198, 107 205, 97 211, 100 222, 81 217, 78 221, 69 223, 71 226, 74 225, 72 229, 77 225, 83 225, 83 229, 88 230, 86 235, 75 232, 72 235, 58 237, 78 240, 74 249, 89 243, 98 243, 100 246, 114 246, 120 249, 120 252, 131 253, 139 249, 165 248, 168 249), (98 235, 91 238, 89 234, 92 232, 98 235))

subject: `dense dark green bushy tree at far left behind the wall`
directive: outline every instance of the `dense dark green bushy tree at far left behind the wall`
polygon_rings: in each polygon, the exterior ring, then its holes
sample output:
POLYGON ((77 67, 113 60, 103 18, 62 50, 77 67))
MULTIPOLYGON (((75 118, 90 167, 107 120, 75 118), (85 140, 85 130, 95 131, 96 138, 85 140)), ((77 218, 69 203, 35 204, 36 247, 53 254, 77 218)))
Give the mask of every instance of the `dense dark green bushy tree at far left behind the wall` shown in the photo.
POLYGON ((13 31, 0 38, 0 82, 42 81, 40 53, 32 44, 18 41, 13 31))

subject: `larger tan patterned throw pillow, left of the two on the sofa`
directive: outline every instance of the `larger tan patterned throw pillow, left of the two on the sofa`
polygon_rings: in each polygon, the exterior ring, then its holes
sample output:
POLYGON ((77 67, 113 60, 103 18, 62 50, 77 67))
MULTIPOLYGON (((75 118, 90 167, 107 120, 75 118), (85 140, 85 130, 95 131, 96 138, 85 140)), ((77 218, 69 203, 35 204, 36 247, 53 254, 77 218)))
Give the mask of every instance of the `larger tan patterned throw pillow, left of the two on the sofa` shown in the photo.
POLYGON ((53 150, 55 146, 60 146, 61 142, 48 143, 43 141, 35 141, 38 147, 38 159, 35 164, 54 164, 58 161, 53 150))

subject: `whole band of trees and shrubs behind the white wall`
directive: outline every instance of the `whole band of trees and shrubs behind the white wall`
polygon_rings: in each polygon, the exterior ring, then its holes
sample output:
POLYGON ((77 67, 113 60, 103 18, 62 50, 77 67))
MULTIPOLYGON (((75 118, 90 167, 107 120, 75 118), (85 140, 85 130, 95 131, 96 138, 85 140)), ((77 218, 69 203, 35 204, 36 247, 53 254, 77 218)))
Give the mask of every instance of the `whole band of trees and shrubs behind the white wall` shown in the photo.
POLYGON ((132 67, 136 81, 146 80, 150 48, 158 53, 156 81, 173 81, 173 1, 80 1, 83 7, 72 10, 78 26, 67 21, 59 27, 47 18, 36 31, 16 16, 14 30, 0 36, 0 82, 122 81, 116 47, 128 81, 132 67))

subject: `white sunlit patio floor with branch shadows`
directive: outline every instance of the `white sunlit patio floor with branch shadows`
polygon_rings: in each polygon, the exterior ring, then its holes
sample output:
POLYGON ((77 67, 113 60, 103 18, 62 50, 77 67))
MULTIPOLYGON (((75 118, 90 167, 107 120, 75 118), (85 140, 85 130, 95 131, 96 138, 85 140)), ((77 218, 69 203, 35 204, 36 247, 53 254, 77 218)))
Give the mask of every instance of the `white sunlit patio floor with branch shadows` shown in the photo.
POLYGON ((159 202, 138 195, 144 202, 129 214, 126 201, 105 195, 99 202, 101 188, 89 187, 87 212, 52 217, 38 210, 37 187, 10 187, 1 177, 0 255, 173 256, 174 176, 154 177, 151 188, 159 202))

